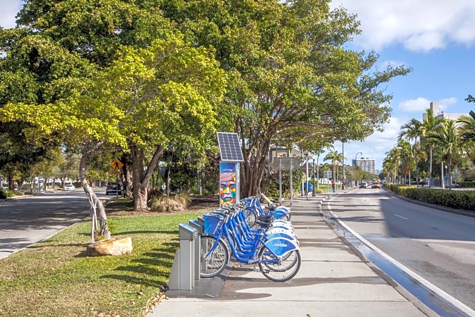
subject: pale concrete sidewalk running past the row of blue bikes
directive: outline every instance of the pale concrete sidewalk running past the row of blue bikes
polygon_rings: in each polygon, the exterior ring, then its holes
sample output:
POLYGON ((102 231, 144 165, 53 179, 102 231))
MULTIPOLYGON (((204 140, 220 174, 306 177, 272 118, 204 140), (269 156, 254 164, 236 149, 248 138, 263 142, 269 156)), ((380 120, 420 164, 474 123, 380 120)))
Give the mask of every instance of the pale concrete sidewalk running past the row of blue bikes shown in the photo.
POLYGON ((217 298, 163 300, 155 316, 436 316, 374 267, 320 215, 331 195, 295 197, 292 223, 302 264, 290 281, 267 280, 253 265, 235 265, 217 298))

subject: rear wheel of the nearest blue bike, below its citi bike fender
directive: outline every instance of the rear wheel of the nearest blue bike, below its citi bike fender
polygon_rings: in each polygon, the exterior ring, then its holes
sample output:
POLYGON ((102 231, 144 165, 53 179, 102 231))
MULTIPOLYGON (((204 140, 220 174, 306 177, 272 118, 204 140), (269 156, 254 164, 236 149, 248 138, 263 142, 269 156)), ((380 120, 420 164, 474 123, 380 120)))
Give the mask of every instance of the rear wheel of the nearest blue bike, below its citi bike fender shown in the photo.
POLYGON ((289 251, 278 260, 266 247, 259 250, 259 260, 261 273, 274 282, 292 279, 298 273, 301 262, 299 250, 289 251))

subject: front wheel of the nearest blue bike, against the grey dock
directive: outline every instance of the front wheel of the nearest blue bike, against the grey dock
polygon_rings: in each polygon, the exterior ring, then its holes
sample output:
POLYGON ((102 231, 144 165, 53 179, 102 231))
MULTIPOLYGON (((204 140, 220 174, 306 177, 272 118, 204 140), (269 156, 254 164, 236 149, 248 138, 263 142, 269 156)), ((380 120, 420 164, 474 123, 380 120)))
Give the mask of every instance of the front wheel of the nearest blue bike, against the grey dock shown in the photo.
POLYGON ((222 240, 218 240, 216 247, 216 238, 211 236, 201 237, 201 267, 200 275, 202 278, 211 278, 221 273, 229 261, 228 249, 222 240), (209 256, 206 255, 211 251, 209 256))

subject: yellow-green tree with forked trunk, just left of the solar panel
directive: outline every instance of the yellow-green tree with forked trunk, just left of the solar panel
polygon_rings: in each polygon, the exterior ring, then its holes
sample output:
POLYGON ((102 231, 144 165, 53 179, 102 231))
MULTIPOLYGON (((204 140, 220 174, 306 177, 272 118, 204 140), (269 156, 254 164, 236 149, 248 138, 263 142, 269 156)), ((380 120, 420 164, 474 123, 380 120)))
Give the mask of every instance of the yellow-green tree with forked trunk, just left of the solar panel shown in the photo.
POLYGON ((169 34, 148 49, 123 47, 105 70, 102 98, 124 115, 118 125, 131 153, 136 210, 148 210, 150 179, 166 149, 199 153, 210 145, 225 76, 209 56, 169 34))

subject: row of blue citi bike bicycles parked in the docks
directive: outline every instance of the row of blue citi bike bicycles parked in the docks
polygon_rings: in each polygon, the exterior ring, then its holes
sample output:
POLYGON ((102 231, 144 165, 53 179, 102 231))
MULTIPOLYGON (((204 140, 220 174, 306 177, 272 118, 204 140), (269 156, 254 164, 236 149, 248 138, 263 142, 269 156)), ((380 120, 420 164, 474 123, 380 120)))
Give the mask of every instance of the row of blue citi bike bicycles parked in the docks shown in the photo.
POLYGON ((301 257, 290 217, 290 209, 276 207, 263 194, 204 214, 201 276, 220 274, 232 255, 239 262, 258 266, 271 281, 292 279, 301 257), (268 206, 262 208, 261 201, 268 206))

